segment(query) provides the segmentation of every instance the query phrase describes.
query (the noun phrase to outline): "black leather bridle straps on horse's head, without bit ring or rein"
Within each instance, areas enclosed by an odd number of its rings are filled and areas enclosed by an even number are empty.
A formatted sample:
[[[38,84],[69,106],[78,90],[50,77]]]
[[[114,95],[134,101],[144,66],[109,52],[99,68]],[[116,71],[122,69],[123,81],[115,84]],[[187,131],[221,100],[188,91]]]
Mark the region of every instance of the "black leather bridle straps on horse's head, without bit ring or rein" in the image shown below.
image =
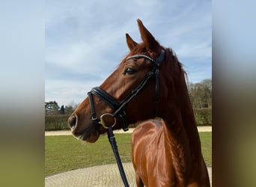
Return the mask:
[[[161,54],[159,55],[156,60],[153,60],[153,58],[150,58],[147,55],[132,55],[127,58],[127,60],[132,58],[144,58],[148,61],[150,61],[153,64],[152,69],[144,76],[144,79],[141,80],[139,85],[132,90],[131,93],[121,102],[118,102],[117,99],[115,99],[113,96],[111,96],[106,91],[103,91],[100,87],[92,88],[91,91],[88,92],[88,98],[91,106],[91,120],[94,120],[95,122],[99,123],[100,120],[97,118],[97,115],[95,113],[94,108],[94,100],[92,98],[92,95],[99,97],[103,102],[105,102],[107,105],[109,105],[110,108],[114,111],[112,117],[119,116],[121,118],[121,128],[124,131],[128,130],[129,122],[126,117],[126,112],[124,111],[125,105],[132,100],[137,94],[144,88],[144,85],[148,82],[150,77],[155,75],[156,77],[156,115],[158,114],[158,108],[159,108],[159,66],[161,65],[163,59],[165,58],[165,50],[162,49]]]

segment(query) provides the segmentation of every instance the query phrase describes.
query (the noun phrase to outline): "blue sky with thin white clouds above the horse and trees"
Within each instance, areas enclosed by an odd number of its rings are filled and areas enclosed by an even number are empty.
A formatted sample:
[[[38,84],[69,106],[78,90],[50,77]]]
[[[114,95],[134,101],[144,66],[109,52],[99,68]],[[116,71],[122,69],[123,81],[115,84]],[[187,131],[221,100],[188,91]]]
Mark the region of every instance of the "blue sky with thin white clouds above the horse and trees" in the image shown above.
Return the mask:
[[[189,82],[212,77],[211,1],[46,1],[45,100],[79,103],[138,43],[141,19],[184,64]]]

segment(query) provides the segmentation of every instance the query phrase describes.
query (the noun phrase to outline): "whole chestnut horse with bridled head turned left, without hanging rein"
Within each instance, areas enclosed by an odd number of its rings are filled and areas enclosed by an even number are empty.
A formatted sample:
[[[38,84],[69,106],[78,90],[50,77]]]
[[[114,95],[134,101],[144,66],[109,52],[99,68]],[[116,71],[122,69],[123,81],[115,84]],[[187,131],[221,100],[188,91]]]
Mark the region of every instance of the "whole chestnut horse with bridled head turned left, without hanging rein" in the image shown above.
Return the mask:
[[[161,117],[133,132],[137,186],[210,186],[182,65],[137,21],[142,43],[126,35],[129,54],[73,111],[70,129],[95,142],[107,126],[127,130],[129,123]]]

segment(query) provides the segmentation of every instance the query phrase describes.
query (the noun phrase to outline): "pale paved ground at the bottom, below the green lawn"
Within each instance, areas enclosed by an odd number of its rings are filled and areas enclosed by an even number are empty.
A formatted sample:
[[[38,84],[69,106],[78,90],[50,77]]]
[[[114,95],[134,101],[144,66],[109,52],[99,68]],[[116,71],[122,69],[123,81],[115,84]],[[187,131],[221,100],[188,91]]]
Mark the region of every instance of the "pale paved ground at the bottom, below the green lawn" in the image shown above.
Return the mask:
[[[135,185],[135,172],[131,162],[123,163],[129,186]],[[212,183],[212,168],[208,168]],[[45,179],[45,187],[120,187],[124,186],[118,165],[99,165],[55,174]]]

